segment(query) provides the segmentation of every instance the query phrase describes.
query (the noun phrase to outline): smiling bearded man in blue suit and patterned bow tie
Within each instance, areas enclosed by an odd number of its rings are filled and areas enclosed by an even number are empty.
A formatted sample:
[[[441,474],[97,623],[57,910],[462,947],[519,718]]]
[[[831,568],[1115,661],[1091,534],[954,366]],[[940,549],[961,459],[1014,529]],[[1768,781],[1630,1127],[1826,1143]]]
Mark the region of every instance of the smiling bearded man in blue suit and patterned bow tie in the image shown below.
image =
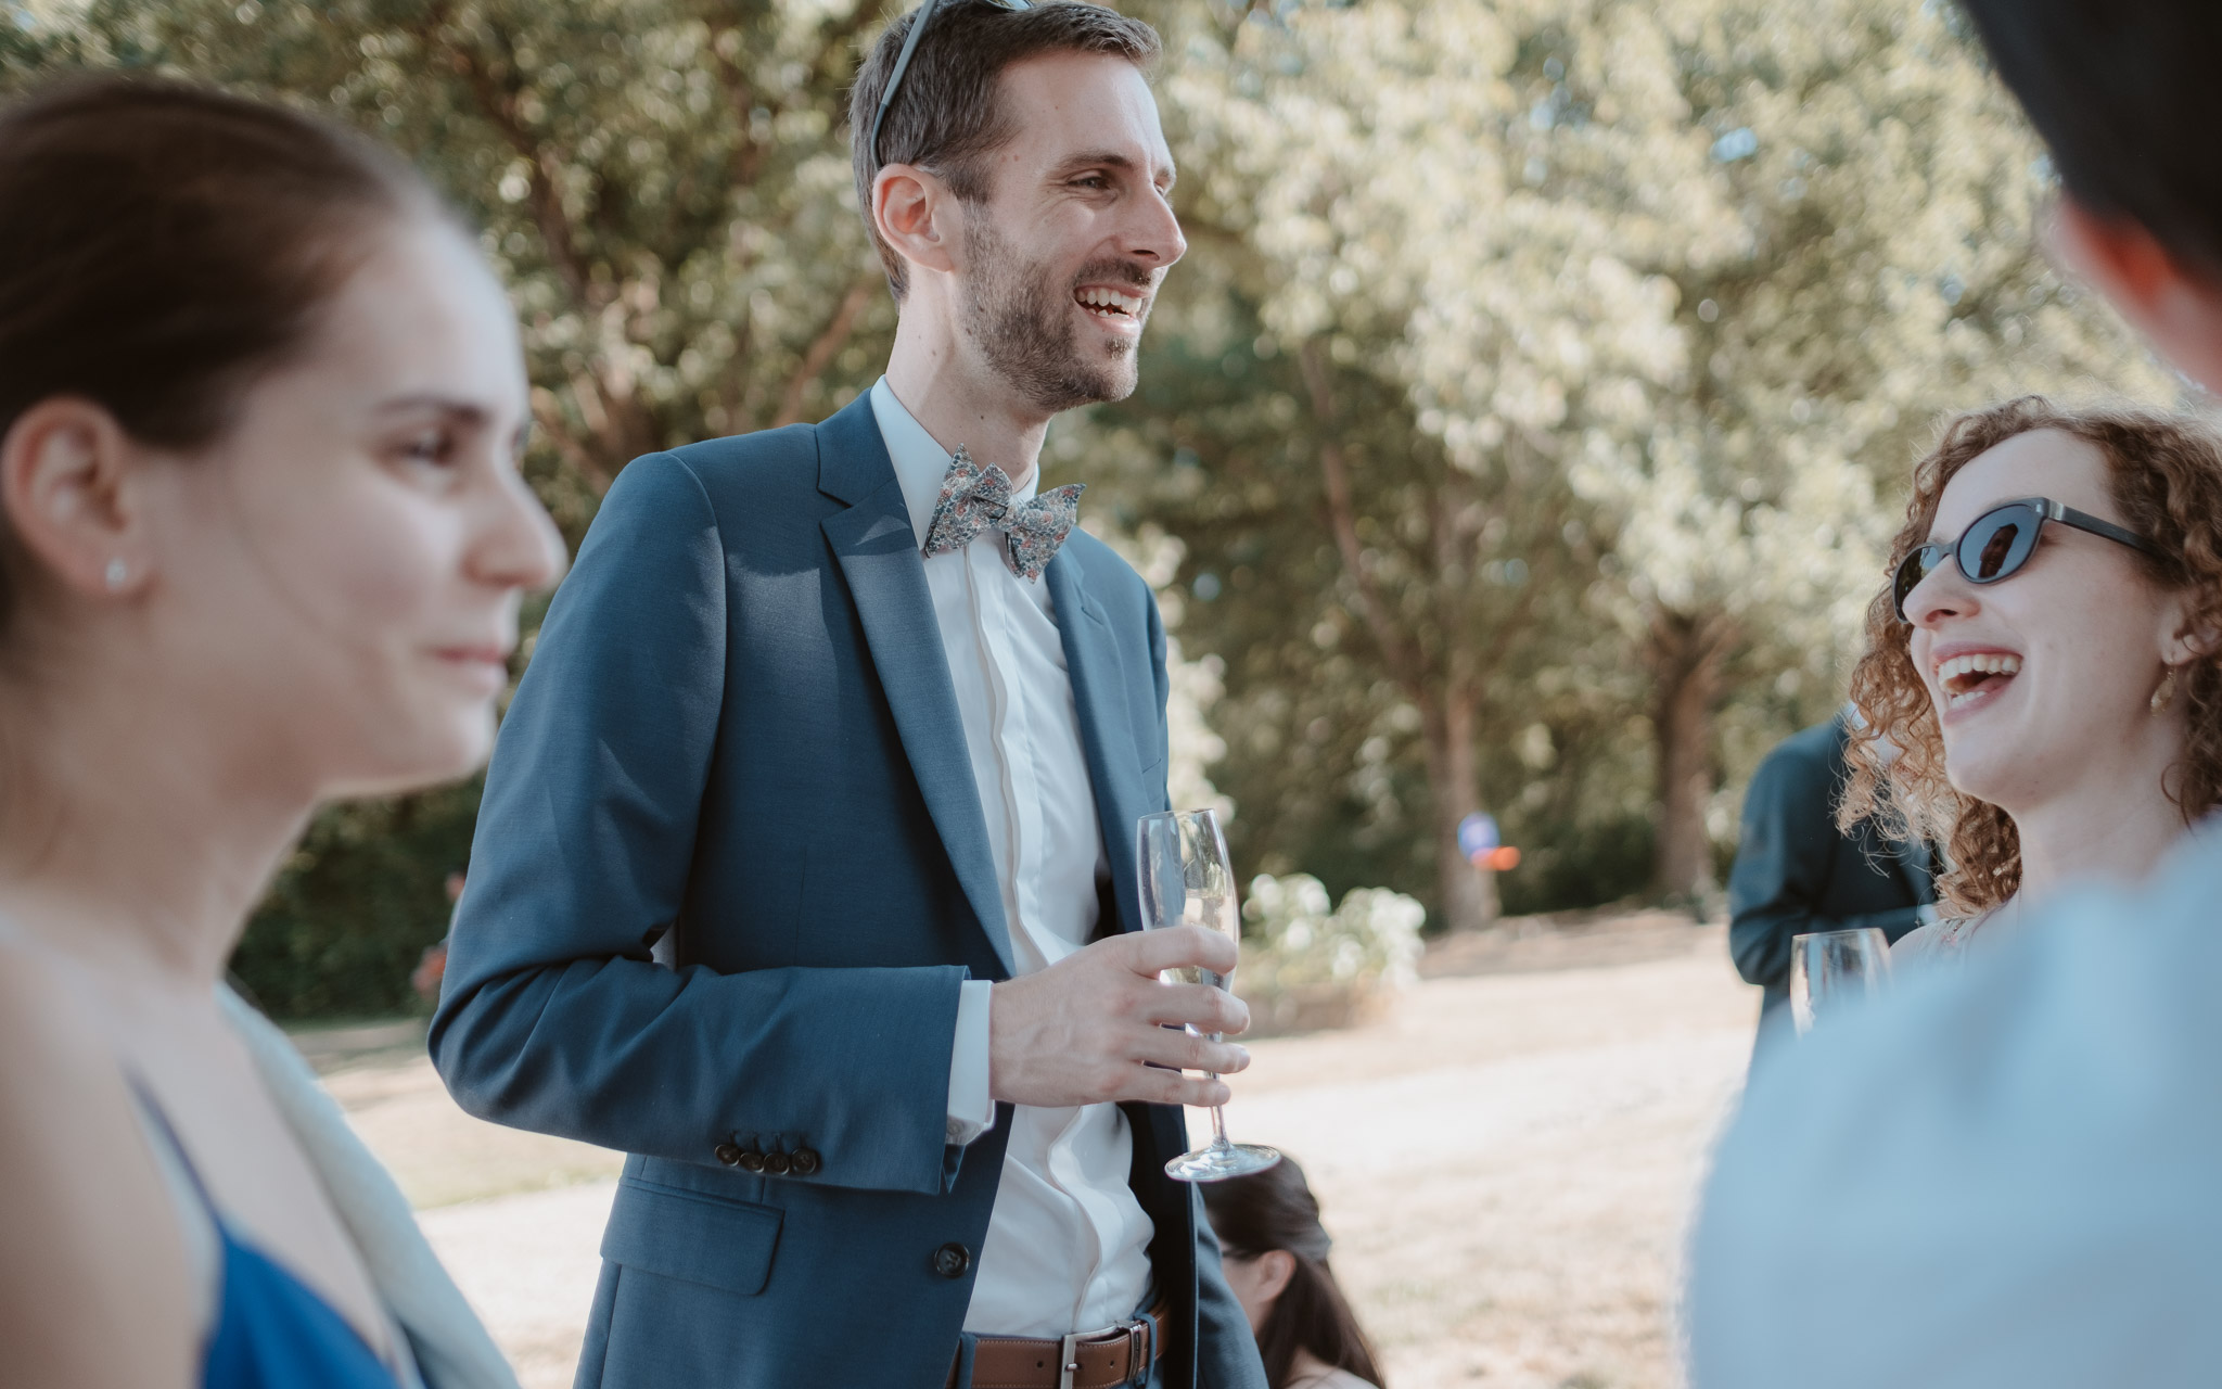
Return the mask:
[[[880,38],[858,193],[902,304],[815,427],[633,460],[502,727],[431,1051],[473,1113],[624,1149],[578,1382],[1264,1389],[1180,1105],[1240,1071],[1167,809],[1149,587],[1040,491],[1135,387],[1184,249],[1091,4]]]

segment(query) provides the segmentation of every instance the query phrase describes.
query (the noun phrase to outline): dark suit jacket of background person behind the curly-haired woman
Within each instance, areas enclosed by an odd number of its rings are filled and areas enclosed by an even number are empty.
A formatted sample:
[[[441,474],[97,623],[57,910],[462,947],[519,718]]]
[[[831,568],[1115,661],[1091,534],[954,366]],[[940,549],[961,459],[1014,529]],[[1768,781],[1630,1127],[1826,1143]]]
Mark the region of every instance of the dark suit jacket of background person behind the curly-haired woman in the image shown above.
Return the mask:
[[[1744,827],[1729,869],[1729,953],[1764,989],[1758,1047],[1789,1025],[1791,936],[1880,927],[1893,942],[1935,920],[1924,845],[1884,838],[1873,820],[1838,831],[1849,740],[1844,709],[1784,738],[1744,791]]]

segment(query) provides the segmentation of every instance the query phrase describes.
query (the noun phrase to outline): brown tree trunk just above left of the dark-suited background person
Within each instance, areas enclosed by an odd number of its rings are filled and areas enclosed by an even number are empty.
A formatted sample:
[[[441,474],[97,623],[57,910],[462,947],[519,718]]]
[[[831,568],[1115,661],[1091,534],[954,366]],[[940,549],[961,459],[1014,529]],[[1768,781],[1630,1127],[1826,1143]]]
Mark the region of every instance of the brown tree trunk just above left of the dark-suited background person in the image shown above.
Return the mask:
[[[1660,611],[1651,620],[1651,731],[1658,747],[1658,847],[1651,887],[1678,902],[1713,891],[1713,840],[1704,805],[1713,796],[1713,705],[1731,624],[1718,613]]]

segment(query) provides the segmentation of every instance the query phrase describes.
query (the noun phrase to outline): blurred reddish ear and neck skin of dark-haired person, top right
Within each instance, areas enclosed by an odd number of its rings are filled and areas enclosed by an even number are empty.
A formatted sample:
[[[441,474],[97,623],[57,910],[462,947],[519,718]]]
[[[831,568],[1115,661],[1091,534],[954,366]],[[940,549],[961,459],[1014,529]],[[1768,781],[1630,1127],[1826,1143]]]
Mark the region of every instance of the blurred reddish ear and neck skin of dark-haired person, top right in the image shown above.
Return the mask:
[[[2106,296],[2184,376],[2222,393],[2222,284],[2184,264],[2140,222],[2062,198],[2044,224],[2062,269]]]

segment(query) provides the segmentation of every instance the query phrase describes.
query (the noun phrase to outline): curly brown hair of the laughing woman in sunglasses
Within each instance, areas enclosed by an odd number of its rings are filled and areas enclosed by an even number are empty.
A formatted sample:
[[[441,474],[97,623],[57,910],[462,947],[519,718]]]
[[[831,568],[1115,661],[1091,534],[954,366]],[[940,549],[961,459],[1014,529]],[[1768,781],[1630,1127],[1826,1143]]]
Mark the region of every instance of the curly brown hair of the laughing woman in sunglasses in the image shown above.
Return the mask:
[[[2060,409],[2042,396],[1969,411],[1944,427],[1935,449],[1913,467],[1906,524],[1891,542],[1895,573],[1929,542],[1938,500],[1953,473],[2018,433],[2055,429],[2093,444],[2106,460],[2106,491],[2122,524],[2166,556],[2142,556],[2146,576],[2189,593],[2189,631],[2222,631],[2222,438],[2206,424],[2142,409]],[[1938,880],[1946,909],[1973,916],[2022,887],[2022,840],[2000,807],[1962,796],[1944,776],[1944,738],[1929,687],[1913,669],[1906,624],[1891,584],[1866,604],[1866,653],[1851,673],[1851,702],[1866,720],[1851,740],[1851,782],[1838,805],[1849,829],[1878,816],[1891,833],[1942,845],[1951,871]],[[2200,653],[2178,667],[2191,738],[2164,773],[2184,822],[2222,802],[2222,653]],[[1895,758],[1884,758],[1895,747]]]

